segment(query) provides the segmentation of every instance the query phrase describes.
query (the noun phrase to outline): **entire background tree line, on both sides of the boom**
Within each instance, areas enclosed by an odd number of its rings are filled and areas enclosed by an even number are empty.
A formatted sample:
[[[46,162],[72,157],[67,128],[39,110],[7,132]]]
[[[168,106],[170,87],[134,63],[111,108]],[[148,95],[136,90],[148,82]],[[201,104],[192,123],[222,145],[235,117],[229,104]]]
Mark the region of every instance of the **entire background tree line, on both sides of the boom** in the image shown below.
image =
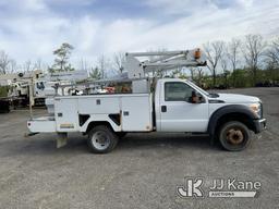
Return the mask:
[[[279,85],[279,37],[265,40],[260,35],[251,34],[232,38],[227,42],[208,41],[202,46],[202,49],[207,57],[207,67],[179,67],[168,76],[187,77],[208,88]],[[53,51],[54,60],[50,66],[40,60],[34,63],[26,61],[20,66],[4,51],[0,51],[0,74],[35,69],[45,69],[50,73],[74,71],[70,63],[72,50],[74,50],[73,46],[68,42],[62,44]],[[81,59],[76,69],[88,71],[90,77],[95,79],[106,78],[122,73],[124,60],[124,52],[117,52],[110,57],[101,54],[95,65]],[[157,73],[157,76],[162,77],[166,74]]]

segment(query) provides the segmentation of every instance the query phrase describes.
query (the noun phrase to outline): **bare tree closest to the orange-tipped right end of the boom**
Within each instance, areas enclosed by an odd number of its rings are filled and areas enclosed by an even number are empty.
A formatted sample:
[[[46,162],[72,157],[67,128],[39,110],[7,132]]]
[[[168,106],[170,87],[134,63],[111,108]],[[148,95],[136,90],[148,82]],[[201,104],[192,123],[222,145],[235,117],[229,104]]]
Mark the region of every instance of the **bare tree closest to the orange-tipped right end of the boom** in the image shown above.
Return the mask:
[[[214,42],[207,42],[206,45],[204,45],[204,50],[208,61],[207,66],[214,77],[214,86],[216,86],[217,66],[221,60],[223,49],[225,49],[225,42],[220,40],[214,41]]]

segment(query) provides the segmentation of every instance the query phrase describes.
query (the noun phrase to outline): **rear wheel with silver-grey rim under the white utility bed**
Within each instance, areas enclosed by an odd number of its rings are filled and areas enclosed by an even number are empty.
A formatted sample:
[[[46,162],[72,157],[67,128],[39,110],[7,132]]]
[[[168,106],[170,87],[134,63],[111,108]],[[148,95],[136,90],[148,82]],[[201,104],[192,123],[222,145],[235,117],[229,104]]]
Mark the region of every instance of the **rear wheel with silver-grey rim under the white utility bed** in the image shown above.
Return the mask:
[[[90,152],[108,153],[118,144],[118,136],[106,125],[98,125],[89,131],[87,145]]]

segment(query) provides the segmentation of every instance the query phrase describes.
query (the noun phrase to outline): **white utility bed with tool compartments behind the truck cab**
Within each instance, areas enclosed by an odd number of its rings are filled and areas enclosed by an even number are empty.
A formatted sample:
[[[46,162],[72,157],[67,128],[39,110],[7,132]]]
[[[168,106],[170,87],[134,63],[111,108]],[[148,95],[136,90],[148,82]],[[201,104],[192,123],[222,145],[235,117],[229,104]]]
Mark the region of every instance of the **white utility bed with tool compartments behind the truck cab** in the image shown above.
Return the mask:
[[[50,132],[53,125],[54,132],[86,132],[90,122],[109,122],[116,132],[153,131],[150,94],[59,96],[51,102],[53,116],[29,121],[32,132]]]

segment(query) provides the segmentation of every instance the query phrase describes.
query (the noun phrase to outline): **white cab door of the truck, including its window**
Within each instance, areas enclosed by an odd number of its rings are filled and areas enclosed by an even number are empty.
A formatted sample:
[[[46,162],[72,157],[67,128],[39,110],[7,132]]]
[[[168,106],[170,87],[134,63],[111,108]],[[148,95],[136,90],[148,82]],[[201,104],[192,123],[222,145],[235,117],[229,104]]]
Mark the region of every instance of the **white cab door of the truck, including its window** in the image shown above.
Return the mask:
[[[165,82],[160,90],[160,116],[157,119],[161,132],[206,132],[208,125],[208,101],[183,82]],[[197,94],[199,102],[192,101]]]

